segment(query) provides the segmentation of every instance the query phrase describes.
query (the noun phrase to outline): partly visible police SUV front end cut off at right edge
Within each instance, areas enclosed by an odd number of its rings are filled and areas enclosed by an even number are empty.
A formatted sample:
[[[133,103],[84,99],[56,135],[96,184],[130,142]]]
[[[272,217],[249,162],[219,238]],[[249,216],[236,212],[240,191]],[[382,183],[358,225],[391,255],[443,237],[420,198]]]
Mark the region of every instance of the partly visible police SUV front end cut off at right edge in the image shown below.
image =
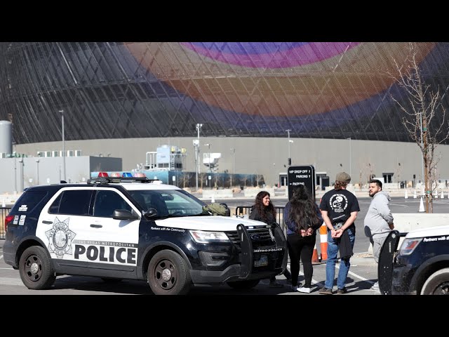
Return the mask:
[[[397,249],[400,237],[405,237]],[[449,225],[390,232],[379,258],[385,295],[449,295]]]

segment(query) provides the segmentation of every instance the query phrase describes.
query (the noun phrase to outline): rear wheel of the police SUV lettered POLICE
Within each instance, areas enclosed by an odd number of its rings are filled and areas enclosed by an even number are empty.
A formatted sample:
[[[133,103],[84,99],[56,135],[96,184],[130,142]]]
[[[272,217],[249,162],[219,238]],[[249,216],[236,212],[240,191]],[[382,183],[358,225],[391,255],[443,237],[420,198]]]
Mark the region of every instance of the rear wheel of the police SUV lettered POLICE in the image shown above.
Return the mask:
[[[36,263],[38,272],[33,273],[32,265]],[[56,276],[51,265],[50,256],[41,246],[31,246],[22,253],[19,262],[19,274],[28,289],[48,289],[55,282]]]

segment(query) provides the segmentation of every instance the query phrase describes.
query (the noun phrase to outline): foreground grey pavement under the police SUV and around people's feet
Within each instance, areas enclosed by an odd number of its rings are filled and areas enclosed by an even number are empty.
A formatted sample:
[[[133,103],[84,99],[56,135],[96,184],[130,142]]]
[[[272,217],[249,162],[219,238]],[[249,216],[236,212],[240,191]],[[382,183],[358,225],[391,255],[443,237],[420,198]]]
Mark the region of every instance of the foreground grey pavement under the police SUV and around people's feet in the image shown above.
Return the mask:
[[[82,295],[151,295],[152,292],[145,282],[124,280],[119,284],[105,284],[99,277],[79,277],[60,276],[55,284],[48,290],[29,290],[20,280],[18,270],[14,270],[10,265],[6,265],[3,260],[0,240],[0,295],[55,295],[55,294],[82,294]],[[338,265],[335,275],[338,272]],[[290,290],[290,283],[280,275],[278,282],[283,284],[282,288],[269,288],[268,280],[261,280],[254,289],[238,291],[230,288],[226,284],[221,286],[194,286],[190,291],[190,296],[239,296],[239,295],[319,295],[318,290],[326,280],[326,263],[314,264],[314,276],[312,279],[311,293],[299,293]],[[347,295],[378,295],[378,291],[371,291],[370,287],[377,279],[377,264],[368,253],[358,253],[351,258],[351,268],[347,278]],[[300,272],[300,282],[304,282],[302,266]],[[336,286],[334,286],[334,293]],[[324,295],[321,295],[324,296]]]

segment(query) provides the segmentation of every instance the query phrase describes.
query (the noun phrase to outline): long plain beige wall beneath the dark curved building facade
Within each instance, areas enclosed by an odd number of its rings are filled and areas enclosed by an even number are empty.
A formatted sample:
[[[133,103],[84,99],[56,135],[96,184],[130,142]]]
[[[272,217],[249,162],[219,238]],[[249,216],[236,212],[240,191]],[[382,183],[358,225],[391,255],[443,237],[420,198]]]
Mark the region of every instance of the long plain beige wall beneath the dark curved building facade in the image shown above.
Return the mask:
[[[195,154],[192,138],[129,138],[105,140],[70,140],[65,141],[66,150],[82,150],[83,155],[123,158],[123,170],[135,169],[136,164],[145,164],[145,153],[155,151],[160,145],[185,147],[185,168],[195,171]],[[368,176],[382,176],[382,173],[394,173],[395,182],[417,180],[422,178],[422,166],[419,147],[415,143],[384,142],[373,140],[341,140],[291,138],[290,155],[293,165],[314,165],[316,172],[326,172],[330,183],[335,180],[337,172],[346,171],[352,176],[352,183],[366,183]],[[287,138],[239,138],[239,137],[201,137],[200,157],[208,151],[204,144],[210,143],[211,152],[221,152],[218,171],[234,171],[232,148],[235,150],[235,172],[262,174],[267,185],[279,182],[279,173],[286,173],[288,157]],[[15,145],[15,151],[36,154],[36,150],[58,150],[60,142]],[[438,172],[441,178],[449,179],[449,145],[436,148],[435,154],[441,152]],[[351,167],[349,162],[351,159]],[[341,166],[340,166],[341,164]],[[399,165],[401,164],[401,165]],[[201,164],[201,172],[206,166]]]

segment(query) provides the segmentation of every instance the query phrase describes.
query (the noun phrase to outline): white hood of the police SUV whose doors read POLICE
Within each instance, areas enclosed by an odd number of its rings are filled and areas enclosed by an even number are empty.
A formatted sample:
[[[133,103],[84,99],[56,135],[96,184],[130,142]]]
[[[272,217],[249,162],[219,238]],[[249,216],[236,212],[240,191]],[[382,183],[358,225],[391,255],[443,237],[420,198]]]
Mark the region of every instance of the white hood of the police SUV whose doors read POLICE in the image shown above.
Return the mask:
[[[245,227],[266,226],[257,220],[232,218],[230,216],[185,216],[156,220],[161,227],[184,228],[185,230],[218,230],[221,232],[237,230],[237,225],[243,223]]]

